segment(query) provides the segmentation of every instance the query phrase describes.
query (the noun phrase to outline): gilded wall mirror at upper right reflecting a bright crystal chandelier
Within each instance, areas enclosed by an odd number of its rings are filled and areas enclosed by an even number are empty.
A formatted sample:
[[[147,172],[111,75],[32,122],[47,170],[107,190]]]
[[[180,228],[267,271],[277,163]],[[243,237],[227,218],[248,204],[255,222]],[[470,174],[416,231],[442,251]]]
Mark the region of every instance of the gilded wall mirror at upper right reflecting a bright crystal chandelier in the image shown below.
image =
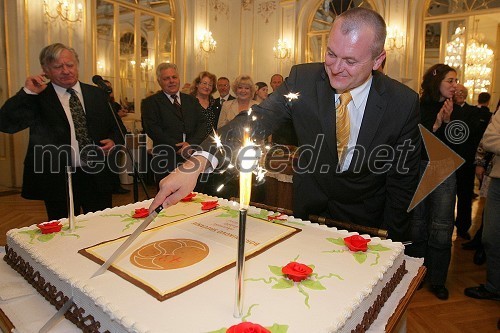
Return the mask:
[[[426,10],[423,70],[437,62],[455,68],[461,83],[468,88],[470,104],[477,104],[481,92],[489,92],[492,101],[500,97],[496,88],[496,78],[500,77],[500,66],[496,66],[500,51],[499,14],[500,0],[431,0]],[[437,35],[443,37],[439,46],[431,45]]]

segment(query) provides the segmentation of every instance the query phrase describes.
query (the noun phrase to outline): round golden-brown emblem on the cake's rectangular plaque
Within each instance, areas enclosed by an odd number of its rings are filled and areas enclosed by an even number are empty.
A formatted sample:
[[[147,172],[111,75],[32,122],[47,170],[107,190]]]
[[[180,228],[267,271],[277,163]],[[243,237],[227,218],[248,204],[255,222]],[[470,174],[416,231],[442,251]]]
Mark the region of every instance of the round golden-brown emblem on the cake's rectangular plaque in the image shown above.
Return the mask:
[[[197,240],[164,239],[135,250],[130,262],[144,269],[168,270],[194,265],[208,253],[208,246]]]

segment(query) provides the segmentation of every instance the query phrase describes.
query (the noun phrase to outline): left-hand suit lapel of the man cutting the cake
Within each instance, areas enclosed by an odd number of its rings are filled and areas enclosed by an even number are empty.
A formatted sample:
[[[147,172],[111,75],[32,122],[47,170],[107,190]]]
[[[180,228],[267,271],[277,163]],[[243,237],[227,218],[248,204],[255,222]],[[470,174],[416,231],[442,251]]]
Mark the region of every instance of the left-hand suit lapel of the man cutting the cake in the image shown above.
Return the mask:
[[[326,76],[323,80],[316,82],[318,91],[318,118],[321,122],[322,133],[325,135],[325,141],[329,151],[337,159],[337,141],[335,133],[335,91],[330,86],[330,81]]]

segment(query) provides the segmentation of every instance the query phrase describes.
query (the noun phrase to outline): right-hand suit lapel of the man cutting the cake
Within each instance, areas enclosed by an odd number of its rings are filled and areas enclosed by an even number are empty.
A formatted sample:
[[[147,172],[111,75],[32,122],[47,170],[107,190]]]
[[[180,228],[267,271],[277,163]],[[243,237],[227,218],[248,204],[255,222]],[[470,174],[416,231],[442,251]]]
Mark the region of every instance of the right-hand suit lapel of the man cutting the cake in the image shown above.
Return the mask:
[[[386,86],[381,75],[374,73],[372,86],[368,94],[368,100],[366,101],[365,113],[359,129],[358,141],[356,142],[356,144],[363,147],[371,145],[387,108],[387,100],[382,98]]]

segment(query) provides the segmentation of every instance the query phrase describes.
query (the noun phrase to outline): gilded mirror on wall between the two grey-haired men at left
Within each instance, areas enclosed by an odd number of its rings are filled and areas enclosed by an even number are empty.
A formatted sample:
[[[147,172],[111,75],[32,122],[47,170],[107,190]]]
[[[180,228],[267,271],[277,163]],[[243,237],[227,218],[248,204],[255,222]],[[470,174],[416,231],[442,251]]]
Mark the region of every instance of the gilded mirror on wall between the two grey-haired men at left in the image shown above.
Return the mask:
[[[174,61],[171,2],[95,0],[95,6],[96,73],[140,120],[141,100],[158,90],[157,64]]]

